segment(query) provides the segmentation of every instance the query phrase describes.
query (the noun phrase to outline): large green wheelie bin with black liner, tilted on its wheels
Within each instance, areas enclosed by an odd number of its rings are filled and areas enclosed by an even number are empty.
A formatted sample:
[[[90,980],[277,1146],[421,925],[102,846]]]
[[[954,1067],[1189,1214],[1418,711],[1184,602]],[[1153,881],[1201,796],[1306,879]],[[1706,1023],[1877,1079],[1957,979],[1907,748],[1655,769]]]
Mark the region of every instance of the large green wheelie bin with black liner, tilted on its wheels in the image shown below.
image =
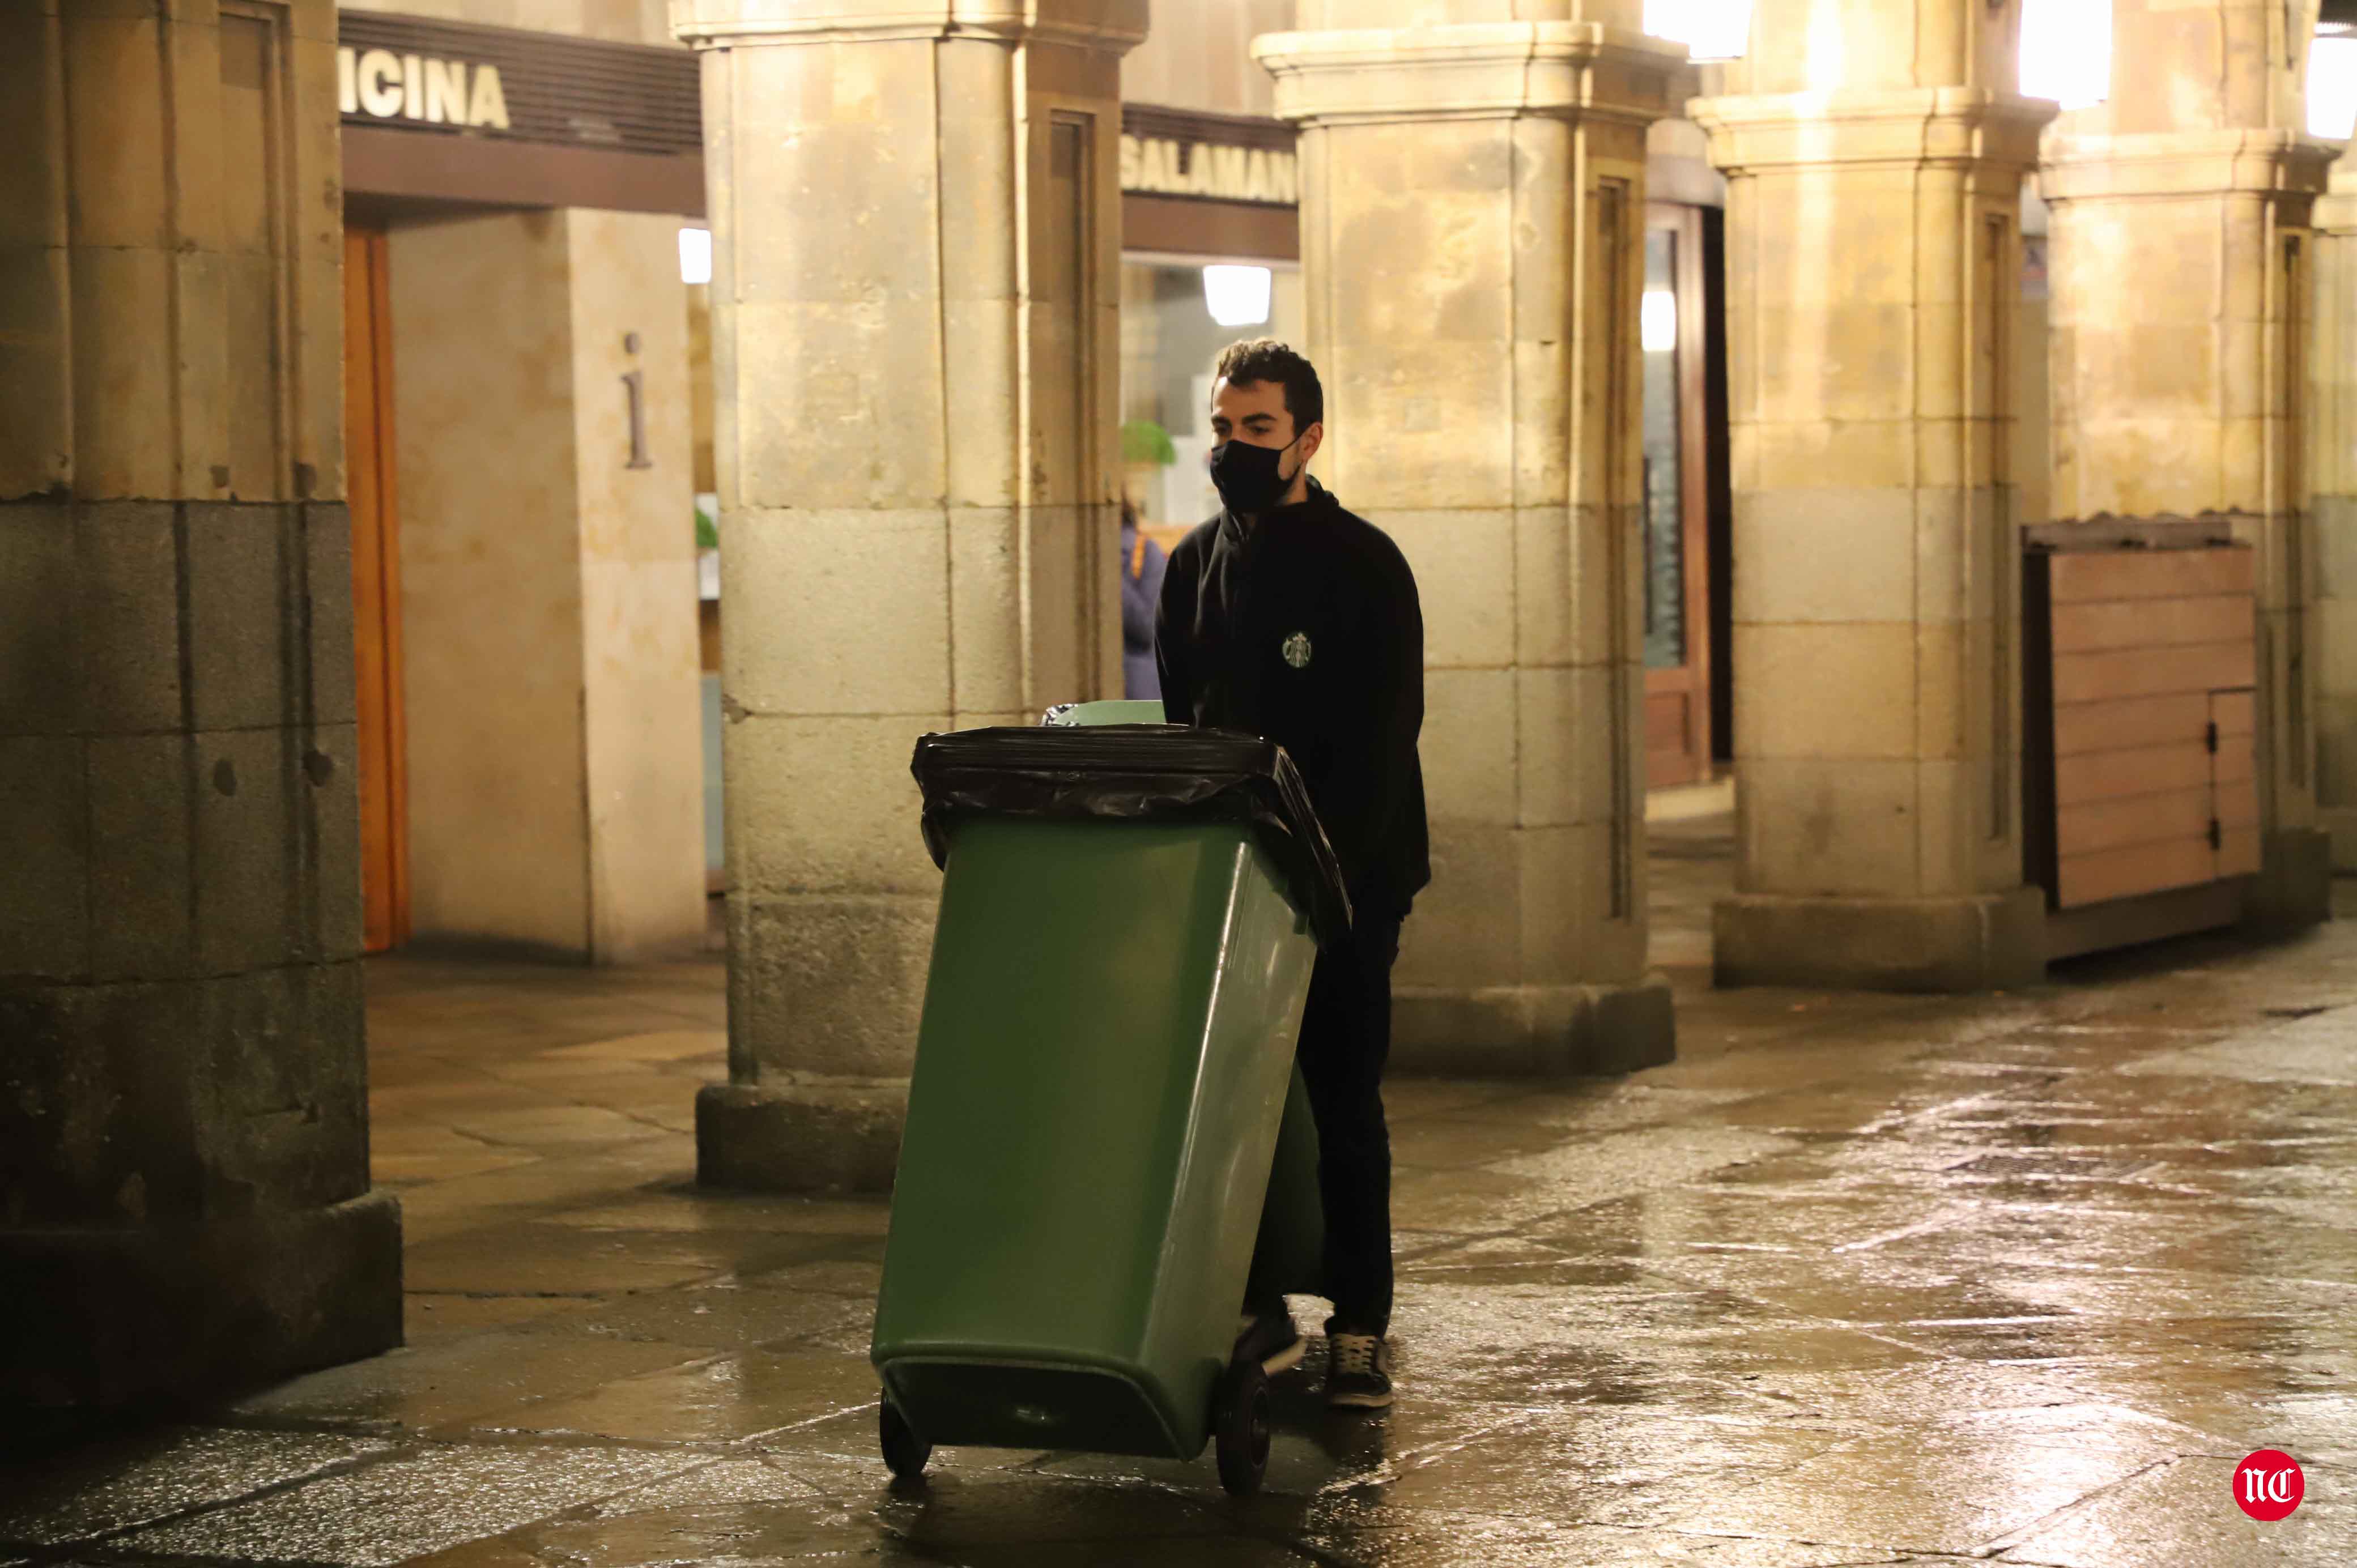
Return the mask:
[[[1292,1061],[1348,901],[1280,747],[1091,707],[917,743],[945,875],[872,1344],[884,1460],[1216,1441],[1249,1493],[1268,1382],[1237,1306],[1247,1269],[1315,1290]]]

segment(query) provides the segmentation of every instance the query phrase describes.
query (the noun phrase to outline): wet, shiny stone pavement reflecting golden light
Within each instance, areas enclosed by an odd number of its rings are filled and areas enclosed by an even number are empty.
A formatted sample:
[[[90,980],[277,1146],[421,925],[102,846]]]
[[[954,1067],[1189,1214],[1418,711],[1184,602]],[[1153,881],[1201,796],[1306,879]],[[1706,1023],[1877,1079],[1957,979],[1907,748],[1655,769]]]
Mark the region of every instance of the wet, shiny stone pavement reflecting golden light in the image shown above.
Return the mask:
[[[1209,1457],[886,1485],[884,1205],[693,1186],[717,964],[377,962],[408,1349],[19,1467],[0,1563],[2357,1563],[2357,922],[1978,1000],[1662,950],[1678,1063],[1393,1085],[1400,1405],[1327,1415],[1313,1351],[1242,1504]]]

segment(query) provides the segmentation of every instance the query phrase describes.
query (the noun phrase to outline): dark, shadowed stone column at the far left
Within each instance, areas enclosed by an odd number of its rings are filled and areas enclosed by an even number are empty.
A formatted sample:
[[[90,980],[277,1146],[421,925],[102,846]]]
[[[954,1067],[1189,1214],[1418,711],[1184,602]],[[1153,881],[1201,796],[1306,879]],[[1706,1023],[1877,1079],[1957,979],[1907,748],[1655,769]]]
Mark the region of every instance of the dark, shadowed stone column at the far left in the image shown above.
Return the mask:
[[[0,1403],[372,1353],[335,7],[5,7],[0,146]]]

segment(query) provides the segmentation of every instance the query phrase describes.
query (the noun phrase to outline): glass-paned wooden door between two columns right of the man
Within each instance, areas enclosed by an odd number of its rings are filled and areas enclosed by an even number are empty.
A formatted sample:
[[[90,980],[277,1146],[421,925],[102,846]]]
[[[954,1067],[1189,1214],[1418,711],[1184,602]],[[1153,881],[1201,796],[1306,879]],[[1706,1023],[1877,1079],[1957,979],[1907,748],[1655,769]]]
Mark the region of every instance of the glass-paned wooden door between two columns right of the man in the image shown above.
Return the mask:
[[[1645,783],[1711,771],[1709,446],[1702,212],[1652,203],[1645,222]]]

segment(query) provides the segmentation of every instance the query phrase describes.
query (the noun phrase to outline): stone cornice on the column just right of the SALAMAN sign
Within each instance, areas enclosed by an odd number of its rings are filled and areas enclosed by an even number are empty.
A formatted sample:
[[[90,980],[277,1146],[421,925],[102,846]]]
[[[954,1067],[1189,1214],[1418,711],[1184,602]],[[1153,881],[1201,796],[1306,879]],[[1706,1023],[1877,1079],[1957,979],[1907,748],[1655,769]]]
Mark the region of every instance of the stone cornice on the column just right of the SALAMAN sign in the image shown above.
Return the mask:
[[[1277,118],[1301,127],[1596,118],[1650,125],[1678,111],[1685,47],[1596,21],[1266,33]]]

